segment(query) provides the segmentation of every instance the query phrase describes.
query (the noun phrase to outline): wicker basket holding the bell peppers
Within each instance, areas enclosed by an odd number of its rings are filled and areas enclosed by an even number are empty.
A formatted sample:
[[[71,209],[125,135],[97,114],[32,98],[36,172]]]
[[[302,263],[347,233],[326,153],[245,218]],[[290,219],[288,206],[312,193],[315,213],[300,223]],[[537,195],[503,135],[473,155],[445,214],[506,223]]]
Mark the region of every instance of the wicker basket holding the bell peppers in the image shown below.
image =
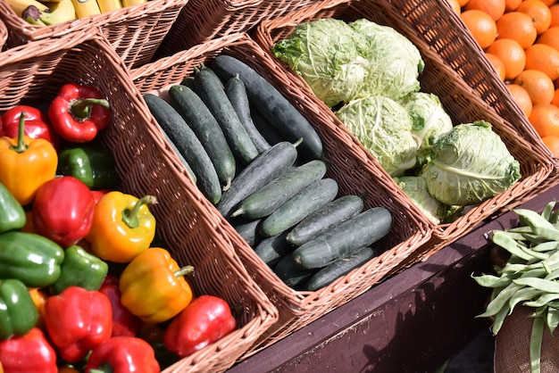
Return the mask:
[[[100,32],[72,32],[8,49],[0,62],[0,111],[16,104],[50,102],[64,83],[96,87],[112,103],[113,121],[98,135],[111,149],[120,175],[119,190],[155,195],[150,207],[157,231],[180,265],[196,269],[196,294],[221,296],[235,309],[238,329],[168,369],[169,372],[223,371],[232,366],[278,319],[278,311],[239,261],[228,228],[214,219],[208,203],[176,162],[152,120],[126,67]],[[213,207],[213,206],[210,206]]]

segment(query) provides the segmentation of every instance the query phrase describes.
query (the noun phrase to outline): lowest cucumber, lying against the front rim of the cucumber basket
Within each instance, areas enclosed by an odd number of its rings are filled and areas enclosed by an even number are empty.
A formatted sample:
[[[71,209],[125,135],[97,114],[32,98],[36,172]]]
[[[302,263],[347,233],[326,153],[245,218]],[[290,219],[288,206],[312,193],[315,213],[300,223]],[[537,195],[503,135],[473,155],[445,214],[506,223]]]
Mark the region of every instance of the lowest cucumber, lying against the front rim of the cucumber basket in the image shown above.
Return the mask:
[[[379,255],[379,251],[369,246],[357,249],[355,252],[339,258],[338,261],[334,261],[314,273],[311,278],[308,278],[305,281],[305,286],[303,286],[303,288],[307,291],[314,292],[321,287],[329,286],[336,279],[345,276],[358,267],[361,267],[364,263],[370,261],[377,255]]]

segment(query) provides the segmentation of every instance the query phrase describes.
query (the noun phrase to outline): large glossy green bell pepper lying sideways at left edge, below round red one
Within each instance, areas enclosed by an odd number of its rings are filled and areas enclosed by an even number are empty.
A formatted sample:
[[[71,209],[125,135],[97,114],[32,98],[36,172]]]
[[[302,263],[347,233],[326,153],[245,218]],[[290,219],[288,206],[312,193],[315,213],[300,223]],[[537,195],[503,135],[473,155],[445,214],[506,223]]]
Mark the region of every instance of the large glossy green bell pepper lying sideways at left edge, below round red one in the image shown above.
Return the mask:
[[[35,233],[0,235],[0,278],[17,278],[28,287],[45,287],[60,277],[63,248]]]

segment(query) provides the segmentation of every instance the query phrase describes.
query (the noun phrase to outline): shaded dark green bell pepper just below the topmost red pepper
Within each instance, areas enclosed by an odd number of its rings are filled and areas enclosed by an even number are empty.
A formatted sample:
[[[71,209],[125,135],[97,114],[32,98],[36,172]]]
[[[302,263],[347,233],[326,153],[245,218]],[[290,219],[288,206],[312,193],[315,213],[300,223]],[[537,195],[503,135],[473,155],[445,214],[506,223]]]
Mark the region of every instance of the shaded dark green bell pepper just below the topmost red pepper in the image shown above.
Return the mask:
[[[113,153],[93,144],[75,145],[59,152],[56,174],[79,178],[91,190],[113,190],[118,182]]]

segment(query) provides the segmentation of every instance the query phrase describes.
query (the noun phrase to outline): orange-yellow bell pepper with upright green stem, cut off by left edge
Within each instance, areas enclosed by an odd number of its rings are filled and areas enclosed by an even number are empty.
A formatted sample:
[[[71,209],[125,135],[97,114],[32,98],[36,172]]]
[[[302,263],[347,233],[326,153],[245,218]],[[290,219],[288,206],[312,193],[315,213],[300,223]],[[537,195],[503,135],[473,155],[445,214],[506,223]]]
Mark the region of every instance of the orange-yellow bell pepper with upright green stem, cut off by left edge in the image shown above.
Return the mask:
[[[38,187],[54,178],[58,165],[54,146],[44,138],[25,136],[24,128],[22,114],[18,137],[0,137],[0,182],[21,205],[33,201]]]

